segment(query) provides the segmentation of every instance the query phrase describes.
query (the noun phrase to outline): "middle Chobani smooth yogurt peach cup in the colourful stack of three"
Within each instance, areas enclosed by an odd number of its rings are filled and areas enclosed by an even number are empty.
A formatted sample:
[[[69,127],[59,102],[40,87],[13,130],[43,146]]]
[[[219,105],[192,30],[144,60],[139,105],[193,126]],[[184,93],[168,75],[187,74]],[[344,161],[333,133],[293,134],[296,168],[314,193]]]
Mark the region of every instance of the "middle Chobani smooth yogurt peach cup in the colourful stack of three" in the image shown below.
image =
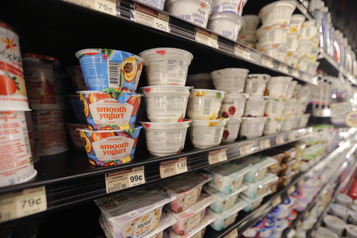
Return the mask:
[[[80,91],[79,98],[91,130],[135,127],[141,94],[117,91]]]

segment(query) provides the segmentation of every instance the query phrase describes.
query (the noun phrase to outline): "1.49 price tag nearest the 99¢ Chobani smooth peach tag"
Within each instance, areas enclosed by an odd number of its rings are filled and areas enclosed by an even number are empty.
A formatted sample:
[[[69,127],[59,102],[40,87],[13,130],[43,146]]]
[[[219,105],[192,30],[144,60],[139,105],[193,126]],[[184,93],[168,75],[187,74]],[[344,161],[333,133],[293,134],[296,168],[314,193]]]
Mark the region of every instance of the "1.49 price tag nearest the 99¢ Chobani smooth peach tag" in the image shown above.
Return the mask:
[[[160,162],[160,177],[167,178],[187,172],[187,157]]]

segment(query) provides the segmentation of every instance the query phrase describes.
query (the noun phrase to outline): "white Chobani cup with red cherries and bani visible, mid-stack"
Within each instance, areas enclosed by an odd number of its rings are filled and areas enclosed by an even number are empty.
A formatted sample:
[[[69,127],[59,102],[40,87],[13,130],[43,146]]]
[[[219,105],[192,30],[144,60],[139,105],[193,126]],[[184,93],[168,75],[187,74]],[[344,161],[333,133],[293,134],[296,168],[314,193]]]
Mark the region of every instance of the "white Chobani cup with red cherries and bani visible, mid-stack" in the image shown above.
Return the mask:
[[[249,94],[246,93],[227,93],[223,98],[220,117],[240,119],[244,112],[244,107]]]

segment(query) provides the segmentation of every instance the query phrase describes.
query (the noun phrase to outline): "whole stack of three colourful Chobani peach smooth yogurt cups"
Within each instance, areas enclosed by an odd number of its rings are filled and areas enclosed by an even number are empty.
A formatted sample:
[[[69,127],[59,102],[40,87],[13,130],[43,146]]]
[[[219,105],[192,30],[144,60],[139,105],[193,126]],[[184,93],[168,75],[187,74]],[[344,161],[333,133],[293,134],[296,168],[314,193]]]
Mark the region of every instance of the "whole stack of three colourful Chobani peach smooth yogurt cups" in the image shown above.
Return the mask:
[[[134,159],[141,126],[135,125],[141,94],[135,93],[145,61],[120,50],[76,53],[87,91],[78,91],[86,128],[77,128],[89,163],[117,165]]]

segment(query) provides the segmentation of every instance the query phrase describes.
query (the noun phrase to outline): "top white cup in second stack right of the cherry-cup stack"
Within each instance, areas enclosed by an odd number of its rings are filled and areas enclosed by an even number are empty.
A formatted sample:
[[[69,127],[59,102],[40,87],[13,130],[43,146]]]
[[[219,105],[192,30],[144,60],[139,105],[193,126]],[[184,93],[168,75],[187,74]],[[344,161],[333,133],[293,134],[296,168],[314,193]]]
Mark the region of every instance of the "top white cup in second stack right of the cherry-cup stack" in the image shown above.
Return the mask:
[[[286,91],[291,80],[292,77],[288,76],[271,77],[267,83],[267,87],[264,94],[266,96],[271,96],[272,98],[285,97]]]

